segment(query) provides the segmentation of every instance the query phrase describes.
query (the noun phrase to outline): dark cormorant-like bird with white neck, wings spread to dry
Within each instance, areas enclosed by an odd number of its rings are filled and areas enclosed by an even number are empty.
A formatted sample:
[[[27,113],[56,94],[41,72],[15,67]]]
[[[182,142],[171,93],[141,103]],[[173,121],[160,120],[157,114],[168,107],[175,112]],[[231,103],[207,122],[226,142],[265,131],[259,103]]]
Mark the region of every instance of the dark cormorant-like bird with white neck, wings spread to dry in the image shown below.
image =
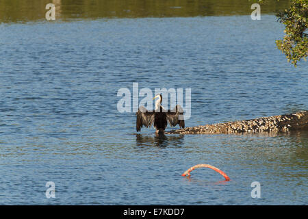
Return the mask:
[[[136,130],[145,127],[151,127],[154,123],[156,133],[164,133],[167,127],[167,121],[171,127],[179,125],[184,128],[185,122],[183,117],[183,109],[180,105],[176,105],[173,110],[166,110],[162,106],[162,94],[157,94],[153,99],[157,99],[155,102],[155,111],[149,112],[143,106],[139,107],[136,120]]]

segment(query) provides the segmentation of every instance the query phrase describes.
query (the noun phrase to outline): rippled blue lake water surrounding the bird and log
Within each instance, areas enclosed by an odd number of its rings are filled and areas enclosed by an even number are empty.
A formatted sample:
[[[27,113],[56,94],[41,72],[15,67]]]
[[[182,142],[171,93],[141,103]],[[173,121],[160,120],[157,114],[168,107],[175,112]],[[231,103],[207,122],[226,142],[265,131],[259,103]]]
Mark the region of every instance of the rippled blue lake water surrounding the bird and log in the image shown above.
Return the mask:
[[[155,136],[120,88],[191,88],[185,125],[308,109],[264,15],[0,24],[0,204],[307,205],[308,133]],[[168,130],[170,128],[168,127]],[[181,174],[196,164],[187,179]],[[55,198],[45,184],[55,183]],[[261,198],[251,198],[251,183]]]

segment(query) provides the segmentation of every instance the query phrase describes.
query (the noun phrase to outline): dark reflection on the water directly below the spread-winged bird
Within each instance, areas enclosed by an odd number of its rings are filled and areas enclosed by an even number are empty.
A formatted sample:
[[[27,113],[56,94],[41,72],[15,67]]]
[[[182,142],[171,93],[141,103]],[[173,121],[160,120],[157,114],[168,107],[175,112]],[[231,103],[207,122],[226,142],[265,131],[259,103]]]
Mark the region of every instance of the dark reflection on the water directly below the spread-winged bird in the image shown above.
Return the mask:
[[[142,136],[141,134],[136,134],[136,145],[144,146],[149,144],[151,146],[168,146],[169,144],[174,144],[176,146],[181,146],[183,144],[183,135],[179,136],[165,136],[164,134],[152,136]]]

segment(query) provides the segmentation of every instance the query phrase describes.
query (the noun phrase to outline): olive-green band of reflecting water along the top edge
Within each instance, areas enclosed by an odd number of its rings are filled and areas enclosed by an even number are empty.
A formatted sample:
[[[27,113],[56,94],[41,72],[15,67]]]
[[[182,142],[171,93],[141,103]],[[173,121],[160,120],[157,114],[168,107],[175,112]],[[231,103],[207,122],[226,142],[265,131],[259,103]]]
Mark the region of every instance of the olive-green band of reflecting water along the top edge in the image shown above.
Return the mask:
[[[257,0],[253,0],[254,3]],[[250,15],[248,0],[40,0],[0,1],[0,23],[44,20],[46,5],[55,5],[56,21],[97,18],[145,18]],[[287,0],[268,1],[262,14],[276,14],[290,5]]]

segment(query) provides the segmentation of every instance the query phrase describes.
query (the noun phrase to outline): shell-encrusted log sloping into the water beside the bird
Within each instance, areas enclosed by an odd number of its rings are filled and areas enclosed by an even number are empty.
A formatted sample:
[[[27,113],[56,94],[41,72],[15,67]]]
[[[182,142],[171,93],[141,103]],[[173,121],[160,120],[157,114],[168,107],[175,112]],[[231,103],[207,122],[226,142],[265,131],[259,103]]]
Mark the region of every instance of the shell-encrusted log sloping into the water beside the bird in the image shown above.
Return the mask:
[[[308,111],[166,131],[165,134],[261,133],[308,130]]]

